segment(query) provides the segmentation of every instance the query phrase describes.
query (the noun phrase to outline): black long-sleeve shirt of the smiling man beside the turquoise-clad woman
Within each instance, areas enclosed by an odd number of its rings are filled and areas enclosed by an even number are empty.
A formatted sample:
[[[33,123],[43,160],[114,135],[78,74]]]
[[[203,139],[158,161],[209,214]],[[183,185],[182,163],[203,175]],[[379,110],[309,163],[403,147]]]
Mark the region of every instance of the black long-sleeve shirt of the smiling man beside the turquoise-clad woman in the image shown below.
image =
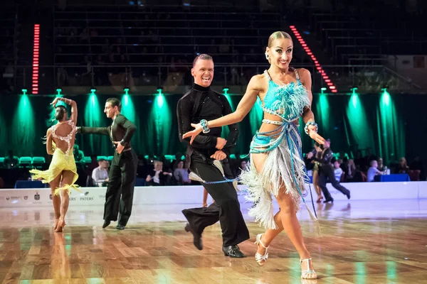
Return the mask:
[[[218,119],[232,112],[230,104],[223,94],[211,90],[210,87],[201,87],[198,84],[194,84],[189,92],[179,99],[176,107],[178,134],[180,141],[186,143],[187,146],[187,165],[189,165],[189,157],[194,151],[205,155],[207,158],[213,155],[218,150],[215,148],[216,138],[221,137],[222,131],[221,127],[215,127],[209,133],[200,133],[190,145],[190,138],[183,139],[182,135],[194,129],[191,124],[198,124],[201,119],[206,119],[207,121]],[[230,129],[230,133],[226,138],[226,146],[222,149],[227,157],[230,155],[232,148],[236,146],[238,125],[231,124],[228,129]]]

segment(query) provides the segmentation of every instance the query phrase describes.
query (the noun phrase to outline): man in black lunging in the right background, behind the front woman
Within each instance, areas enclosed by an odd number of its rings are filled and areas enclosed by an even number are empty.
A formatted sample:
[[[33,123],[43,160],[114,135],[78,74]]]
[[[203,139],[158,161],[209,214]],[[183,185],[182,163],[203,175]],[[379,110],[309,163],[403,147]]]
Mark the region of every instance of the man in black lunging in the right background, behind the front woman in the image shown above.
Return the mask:
[[[323,145],[323,151],[320,155],[320,158],[314,158],[314,160],[317,160],[317,162],[322,163],[322,166],[320,168],[319,172],[319,186],[322,189],[323,195],[325,196],[325,203],[326,202],[334,202],[334,199],[332,198],[329,190],[327,190],[326,182],[329,179],[332,186],[335,187],[337,190],[342,192],[343,195],[347,196],[347,199],[350,199],[350,191],[347,190],[347,188],[343,187],[339,184],[337,180],[335,180],[334,175],[334,168],[332,168],[331,165],[331,159],[332,159],[332,150],[330,148],[331,146],[331,140],[327,139],[325,141],[325,144]]]

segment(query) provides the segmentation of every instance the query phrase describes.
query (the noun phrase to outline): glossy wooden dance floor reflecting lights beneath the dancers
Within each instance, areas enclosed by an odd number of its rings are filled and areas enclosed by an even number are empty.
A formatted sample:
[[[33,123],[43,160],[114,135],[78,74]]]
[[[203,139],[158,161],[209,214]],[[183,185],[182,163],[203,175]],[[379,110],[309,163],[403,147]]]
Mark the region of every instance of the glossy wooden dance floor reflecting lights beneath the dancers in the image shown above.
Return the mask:
[[[193,207],[196,204],[193,205]],[[221,253],[218,224],[204,232],[204,250],[184,231],[188,204],[139,206],[124,231],[102,229],[102,206],[70,208],[63,233],[51,207],[0,209],[0,283],[427,283],[427,200],[335,202],[317,207],[322,238],[299,212],[318,280],[301,280],[298,255],[285,233],[263,268],[256,234],[240,245],[247,258]]]

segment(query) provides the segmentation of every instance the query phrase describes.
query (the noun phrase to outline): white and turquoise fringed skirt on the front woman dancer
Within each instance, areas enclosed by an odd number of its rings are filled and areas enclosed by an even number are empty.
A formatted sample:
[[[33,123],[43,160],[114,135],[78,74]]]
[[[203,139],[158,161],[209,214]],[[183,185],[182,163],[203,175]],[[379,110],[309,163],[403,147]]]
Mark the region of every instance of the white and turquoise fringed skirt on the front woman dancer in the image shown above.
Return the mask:
[[[300,209],[302,191],[308,182],[305,163],[302,160],[301,136],[297,126],[285,123],[278,136],[261,136],[257,133],[251,143],[251,162],[243,170],[241,182],[247,186],[246,200],[253,202],[248,214],[260,222],[265,229],[278,229],[274,222],[273,196],[285,186],[285,193],[295,201]],[[253,154],[265,153],[261,172],[255,168]]]

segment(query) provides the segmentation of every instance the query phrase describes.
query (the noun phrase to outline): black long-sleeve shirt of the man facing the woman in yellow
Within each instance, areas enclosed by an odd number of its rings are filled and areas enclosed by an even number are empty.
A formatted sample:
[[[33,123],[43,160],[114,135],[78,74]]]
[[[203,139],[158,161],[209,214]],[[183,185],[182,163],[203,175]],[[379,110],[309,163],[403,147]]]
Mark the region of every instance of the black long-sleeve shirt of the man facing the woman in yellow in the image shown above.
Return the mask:
[[[112,128],[112,129],[111,129]],[[111,126],[107,127],[80,127],[80,133],[102,134],[110,136],[112,142],[121,141],[125,150],[131,148],[130,139],[134,135],[137,127],[123,114],[117,114]],[[113,147],[116,145],[113,143]]]

